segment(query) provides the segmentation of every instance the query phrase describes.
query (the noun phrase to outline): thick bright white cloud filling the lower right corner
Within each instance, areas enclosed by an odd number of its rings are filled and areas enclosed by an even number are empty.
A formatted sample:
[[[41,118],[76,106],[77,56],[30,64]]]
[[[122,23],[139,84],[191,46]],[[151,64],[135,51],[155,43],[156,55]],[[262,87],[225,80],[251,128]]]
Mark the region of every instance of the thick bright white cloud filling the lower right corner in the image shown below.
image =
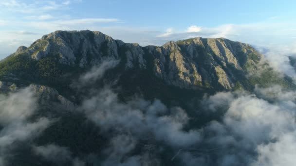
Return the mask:
[[[296,150],[292,146],[296,144],[296,92],[283,91],[280,86],[256,91],[261,99],[240,91],[207,98],[209,109],[222,116],[221,121],[211,121],[203,128],[205,134],[199,149],[184,149],[177,157],[185,165],[192,165],[191,161],[204,166],[293,165],[296,162]],[[226,97],[229,100],[224,99]],[[270,97],[274,101],[262,99],[270,100]],[[221,109],[225,114],[219,113]],[[214,148],[206,149],[208,146]]]

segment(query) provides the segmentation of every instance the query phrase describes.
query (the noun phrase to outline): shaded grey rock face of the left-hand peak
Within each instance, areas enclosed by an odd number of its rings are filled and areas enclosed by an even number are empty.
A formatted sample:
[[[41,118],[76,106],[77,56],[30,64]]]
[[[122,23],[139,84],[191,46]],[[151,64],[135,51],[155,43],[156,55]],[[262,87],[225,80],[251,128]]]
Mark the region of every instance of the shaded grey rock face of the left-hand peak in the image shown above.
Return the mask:
[[[32,59],[40,60],[48,56],[56,56],[65,65],[80,67],[94,65],[103,57],[118,59],[117,43],[110,36],[92,31],[56,31],[44,35],[34,42],[28,49],[21,51],[31,55]]]

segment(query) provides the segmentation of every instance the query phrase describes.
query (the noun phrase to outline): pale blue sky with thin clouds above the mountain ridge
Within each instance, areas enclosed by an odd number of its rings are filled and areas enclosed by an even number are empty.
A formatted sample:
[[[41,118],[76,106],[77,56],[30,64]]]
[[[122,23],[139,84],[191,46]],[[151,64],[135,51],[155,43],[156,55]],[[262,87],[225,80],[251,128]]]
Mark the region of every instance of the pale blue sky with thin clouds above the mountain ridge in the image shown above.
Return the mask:
[[[0,0],[0,59],[56,30],[101,31],[142,46],[196,36],[293,45],[295,7],[296,0]]]

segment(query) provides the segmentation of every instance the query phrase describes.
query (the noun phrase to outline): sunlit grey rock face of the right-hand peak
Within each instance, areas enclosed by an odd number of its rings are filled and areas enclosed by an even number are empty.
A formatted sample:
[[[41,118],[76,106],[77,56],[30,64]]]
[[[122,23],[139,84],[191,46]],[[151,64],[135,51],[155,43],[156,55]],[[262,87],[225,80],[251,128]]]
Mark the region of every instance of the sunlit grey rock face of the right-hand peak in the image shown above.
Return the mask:
[[[256,69],[262,56],[247,44],[224,38],[197,37],[146,49],[153,56],[157,77],[189,89],[217,84],[223,89],[232,89],[238,80],[235,73]]]

